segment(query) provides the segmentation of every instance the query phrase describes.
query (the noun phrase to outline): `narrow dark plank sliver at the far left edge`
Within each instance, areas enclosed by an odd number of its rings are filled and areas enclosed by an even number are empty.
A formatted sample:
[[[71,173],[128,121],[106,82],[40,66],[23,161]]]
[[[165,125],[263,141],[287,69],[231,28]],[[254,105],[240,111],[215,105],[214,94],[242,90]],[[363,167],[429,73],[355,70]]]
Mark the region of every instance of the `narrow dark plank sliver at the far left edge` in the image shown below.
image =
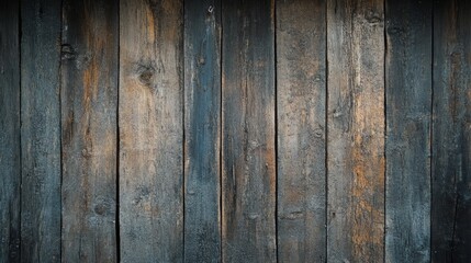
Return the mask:
[[[20,261],[20,10],[0,1],[0,262]]]

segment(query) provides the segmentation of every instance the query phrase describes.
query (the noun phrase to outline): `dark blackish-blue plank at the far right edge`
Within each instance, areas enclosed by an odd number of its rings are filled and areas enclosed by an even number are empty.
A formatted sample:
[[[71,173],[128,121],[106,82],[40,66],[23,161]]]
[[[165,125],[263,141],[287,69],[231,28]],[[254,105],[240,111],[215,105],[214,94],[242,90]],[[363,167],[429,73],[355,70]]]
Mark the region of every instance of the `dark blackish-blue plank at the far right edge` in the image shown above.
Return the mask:
[[[435,1],[431,261],[471,259],[471,2]]]

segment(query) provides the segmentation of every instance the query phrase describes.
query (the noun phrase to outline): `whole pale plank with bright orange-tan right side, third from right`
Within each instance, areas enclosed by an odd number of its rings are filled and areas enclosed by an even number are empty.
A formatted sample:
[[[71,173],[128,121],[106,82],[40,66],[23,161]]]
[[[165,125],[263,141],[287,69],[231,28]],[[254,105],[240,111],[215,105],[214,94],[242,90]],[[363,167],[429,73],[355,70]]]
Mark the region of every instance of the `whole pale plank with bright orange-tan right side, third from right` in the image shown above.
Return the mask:
[[[382,262],[382,0],[328,1],[327,58],[327,261]]]

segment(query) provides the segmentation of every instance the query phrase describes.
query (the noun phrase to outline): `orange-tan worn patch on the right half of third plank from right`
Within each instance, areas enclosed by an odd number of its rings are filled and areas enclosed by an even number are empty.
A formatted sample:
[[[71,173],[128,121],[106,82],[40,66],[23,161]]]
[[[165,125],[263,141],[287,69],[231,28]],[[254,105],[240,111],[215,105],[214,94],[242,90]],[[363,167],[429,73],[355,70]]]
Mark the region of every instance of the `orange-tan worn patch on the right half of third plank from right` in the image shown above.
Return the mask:
[[[366,77],[365,77],[366,78]],[[356,98],[352,160],[352,253],[356,259],[375,259],[383,250],[384,129],[383,100],[372,102],[371,90]]]

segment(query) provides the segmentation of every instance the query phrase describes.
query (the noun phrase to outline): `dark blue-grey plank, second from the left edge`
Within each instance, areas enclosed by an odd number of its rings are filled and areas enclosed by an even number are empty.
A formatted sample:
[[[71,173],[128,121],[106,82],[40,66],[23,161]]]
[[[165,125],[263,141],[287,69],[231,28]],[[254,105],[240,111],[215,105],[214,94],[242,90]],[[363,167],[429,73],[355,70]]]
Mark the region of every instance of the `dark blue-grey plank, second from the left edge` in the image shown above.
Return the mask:
[[[21,2],[21,260],[60,261],[60,0]]]

